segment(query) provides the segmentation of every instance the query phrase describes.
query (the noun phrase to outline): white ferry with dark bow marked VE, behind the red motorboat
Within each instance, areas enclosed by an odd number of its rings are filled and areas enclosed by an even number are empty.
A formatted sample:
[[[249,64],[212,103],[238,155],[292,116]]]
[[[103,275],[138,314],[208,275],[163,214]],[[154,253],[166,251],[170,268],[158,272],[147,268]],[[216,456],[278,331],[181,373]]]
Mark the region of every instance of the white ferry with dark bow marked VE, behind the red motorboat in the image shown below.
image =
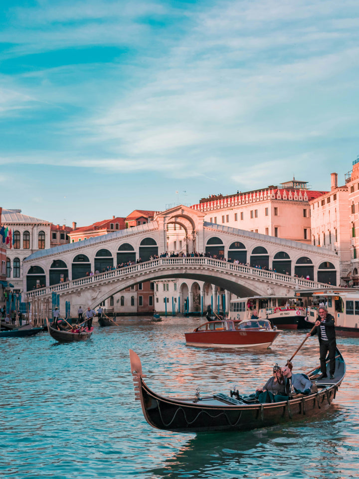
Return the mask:
[[[250,296],[231,300],[229,319],[250,319],[254,312],[259,319],[269,319],[280,329],[305,329],[307,308],[294,296]]]

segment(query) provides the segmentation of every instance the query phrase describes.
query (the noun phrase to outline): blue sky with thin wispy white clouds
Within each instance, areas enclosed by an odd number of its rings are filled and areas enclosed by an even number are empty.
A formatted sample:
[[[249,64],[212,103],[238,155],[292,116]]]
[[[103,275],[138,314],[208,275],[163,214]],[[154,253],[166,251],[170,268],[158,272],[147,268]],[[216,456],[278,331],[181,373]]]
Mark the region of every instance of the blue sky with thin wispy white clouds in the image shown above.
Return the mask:
[[[2,1],[0,206],[79,227],[342,185],[358,37],[358,0]]]

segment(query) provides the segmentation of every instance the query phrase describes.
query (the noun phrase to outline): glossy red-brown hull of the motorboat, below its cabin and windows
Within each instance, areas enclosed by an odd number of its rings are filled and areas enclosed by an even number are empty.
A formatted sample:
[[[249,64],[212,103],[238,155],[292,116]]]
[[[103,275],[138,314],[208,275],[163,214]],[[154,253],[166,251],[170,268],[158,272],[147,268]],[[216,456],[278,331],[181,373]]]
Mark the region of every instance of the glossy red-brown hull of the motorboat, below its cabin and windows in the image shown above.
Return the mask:
[[[188,346],[220,348],[269,348],[279,331],[193,331],[184,333]]]

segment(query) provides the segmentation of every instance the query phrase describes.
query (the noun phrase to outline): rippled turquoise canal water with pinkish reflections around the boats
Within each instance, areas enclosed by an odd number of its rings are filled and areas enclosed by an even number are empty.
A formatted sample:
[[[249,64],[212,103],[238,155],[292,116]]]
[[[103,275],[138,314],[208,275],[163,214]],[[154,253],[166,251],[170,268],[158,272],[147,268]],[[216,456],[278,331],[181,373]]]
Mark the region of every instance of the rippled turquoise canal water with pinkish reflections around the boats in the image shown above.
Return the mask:
[[[180,434],[145,421],[134,399],[129,348],[159,393],[202,395],[235,385],[252,392],[284,365],[304,333],[283,332],[265,351],[188,347],[184,331],[201,320],[152,323],[123,318],[95,328],[92,339],[57,344],[47,334],[0,342],[0,477],[358,478],[359,339],[338,338],[347,375],[333,407],[320,419],[240,433]],[[318,360],[310,338],[294,372]]]

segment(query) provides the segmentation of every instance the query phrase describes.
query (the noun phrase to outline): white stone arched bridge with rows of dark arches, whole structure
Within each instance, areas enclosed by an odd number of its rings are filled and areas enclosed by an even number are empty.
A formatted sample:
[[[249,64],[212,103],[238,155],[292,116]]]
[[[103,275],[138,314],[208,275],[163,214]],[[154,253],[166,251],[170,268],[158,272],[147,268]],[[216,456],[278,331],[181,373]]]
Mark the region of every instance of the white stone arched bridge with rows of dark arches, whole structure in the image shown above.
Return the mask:
[[[68,300],[74,311],[84,304],[96,307],[136,283],[163,278],[203,281],[241,297],[289,295],[298,288],[337,284],[340,264],[333,251],[206,223],[203,217],[179,206],[148,224],[38,250],[24,260],[27,300],[46,300],[55,292],[60,309]],[[176,226],[184,231],[186,256],[158,258]]]

